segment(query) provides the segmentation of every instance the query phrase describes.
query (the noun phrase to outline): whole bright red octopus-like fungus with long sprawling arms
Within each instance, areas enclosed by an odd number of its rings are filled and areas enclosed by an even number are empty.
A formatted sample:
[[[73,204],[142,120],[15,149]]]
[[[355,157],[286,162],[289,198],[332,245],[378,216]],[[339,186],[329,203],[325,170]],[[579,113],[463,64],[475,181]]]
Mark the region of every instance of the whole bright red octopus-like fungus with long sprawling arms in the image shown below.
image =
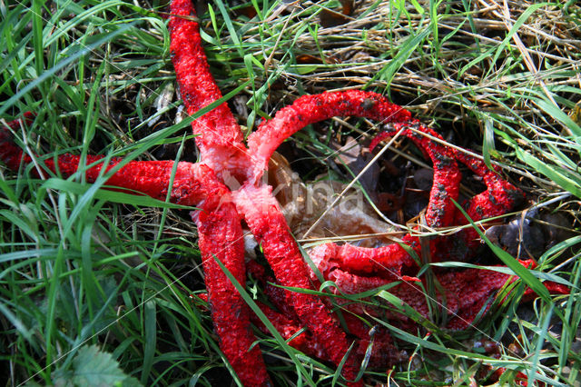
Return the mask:
[[[173,0],[171,13],[171,51],[177,83],[187,112],[197,114],[200,109],[220,100],[222,93],[210,74],[191,1]],[[241,228],[244,220],[261,243],[264,257],[275,276],[272,281],[287,288],[304,290],[281,290],[261,280],[264,295],[278,309],[277,312],[259,302],[262,312],[285,339],[289,340],[296,334],[290,344],[300,351],[337,366],[345,361],[342,375],[348,383],[361,385],[362,381],[355,382],[361,364],[387,368],[401,360],[389,332],[371,328],[364,323],[365,317],[388,319],[389,323],[409,332],[416,332],[418,326],[401,313],[385,312],[383,308],[374,309],[363,303],[344,300],[331,305],[330,297],[321,298],[309,293],[313,288],[317,289],[319,278],[305,263],[281,207],[271,194],[272,188],[261,182],[272,153],[285,139],[307,124],[336,115],[367,117],[389,124],[389,132],[379,134],[372,146],[389,135],[401,133],[431,160],[434,182],[425,216],[428,228],[467,223],[454,204],[458,201],[461,179],[457,162],[467,165],[487,185],[484,193],[464,204],[473,220],[510,212],[523,196],[514,185],[503,180],[497,171],[489,170],[478,158],[443,144],[441,136],[413,119],[409,111],[392,104],[382,95],[357,90],[301,96],[271,120],[261,123],[249,136],[248,147],[243,144],[240,126],[228,105],[219,104],[192,123],[201,153],[201,163],[198,164],[176,165],[170,161],[124,163],[123,159],[109,160],[102,156],[87,156],[82,164],[79,156],[63,154],[57,159],[47,158],[39,165],[47,172],[64,177],[84,174],[89,183],[105,176],[104,184],[108,188],[129,189],[160,200],[169,196],[172,203],[198,207],[200,210],[192,214],[192,219],[198,227],[208,302],[220,348],[244,385],[271,385],[260,347],[251,332],[251,321],[263,332],[267,332],[266,328],[250,312],[217,262],[223,263],[238,283],[245,283],[247,267]],[[31,116],[26,118],[30,120]],[[16,130],[21,124],[21,121],[14,121],[8,123],[8,127]],[[20,165],[32,162],[31,156],[14,144],[12,134],[4,127],[0,128],[0,158],[15,171]],[[43,175],[39,171],[33,173]],[[240,179],[240,188],[229,189],[224,184],[227,176]],[[429,241],[429,256],[422,258],[425,261],[455,259],[454,243],[458,241],[464,243],[469,251],[477,247],[478,233],[474,230],[468,229],[460,235],[459,238],[434,237]],[[413,307],[420,316],[429,318],[428,302],[422,290],[427,280],[419,275],[420,263],[410,253],[420,257],[423,253],[419,236],[415,233],[406,234],[399,243],[375,249],[350,244],[321,244],[310,252],[310,258],[323,278],[333,281],[342,293],[355,294],[391,285],[389,293]],[[530,262],[520,263],[531,266]],[[248,271],[254,277],[264,275],[264,268],[256,262],[249,264]],[[497,290],[517,280],[516,276],[477,269],[441,269],[435,271],[434,276],[444,293],[437,295],[435,301],[443,303],[446,300],[450,319],[445,327],[448,329],[468,327],[478,315],[486,312],[488,301]],[[545,285],[551,293],[568,292],[566,287],[556,283]],[[525,295],[532,296],[532,292],[527,290]],[[338,305],[342,309],[341,319],[332,312],[332,308]]]

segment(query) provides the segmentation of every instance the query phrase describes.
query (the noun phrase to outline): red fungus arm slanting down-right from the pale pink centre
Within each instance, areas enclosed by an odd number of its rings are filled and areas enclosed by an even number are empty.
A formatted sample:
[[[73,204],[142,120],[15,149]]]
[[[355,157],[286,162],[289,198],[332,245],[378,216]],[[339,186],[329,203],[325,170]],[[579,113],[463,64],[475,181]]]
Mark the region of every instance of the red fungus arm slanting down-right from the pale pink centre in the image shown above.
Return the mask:
[[[276,279],[283,286],[310,289],[308,271],[299,247],[292,238],[279,204],[271,195],[271,187],[256,187],[245,184],[232,193],[239,213],[261,243],[262,250]],[[309,327],[316,340],[330,356],[330,361],[339,364],[349,349],[345,332],[330,315],[319,298],[306,293],[286,292],[287,303],[291,304],[300,322]],[[354,380],[359,371],[353,357],[343,367],[343,375]]]

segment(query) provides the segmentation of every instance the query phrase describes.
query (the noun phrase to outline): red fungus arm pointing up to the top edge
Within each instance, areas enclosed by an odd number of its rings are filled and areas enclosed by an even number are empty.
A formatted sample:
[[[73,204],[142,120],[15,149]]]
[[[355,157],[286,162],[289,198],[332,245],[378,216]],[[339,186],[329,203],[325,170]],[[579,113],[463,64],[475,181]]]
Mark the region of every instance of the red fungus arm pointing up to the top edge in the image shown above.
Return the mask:
[[[202,37],[191,0],[173,0],[171,5],[170,35],[172,63],[180,85],[183,103],[188,114],[222,98],[222,93],[210,73],[202,47]],[[192,123],[196,144],[202,161],[216,174],[223,169],[234,174],[245,174],[248,164],[246,147],[242,144],[240,126],[231,114],[228,104],[218,107]]]

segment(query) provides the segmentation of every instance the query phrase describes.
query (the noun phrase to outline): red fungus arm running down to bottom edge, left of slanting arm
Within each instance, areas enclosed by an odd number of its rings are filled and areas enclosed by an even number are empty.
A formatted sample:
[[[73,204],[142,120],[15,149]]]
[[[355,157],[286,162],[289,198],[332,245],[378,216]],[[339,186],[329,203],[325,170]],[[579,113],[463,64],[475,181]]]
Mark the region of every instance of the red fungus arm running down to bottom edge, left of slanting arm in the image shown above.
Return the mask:
[[[256,338],[251,332],[248,305],[216,262],[222,262],[238,283],[244,285],[246,271],[240,216],[233,203],[213,202],[202,206],[196,223],[214,330],[222,352],[243,385],[271,385],[261,349],[258,345],[252,346]]]

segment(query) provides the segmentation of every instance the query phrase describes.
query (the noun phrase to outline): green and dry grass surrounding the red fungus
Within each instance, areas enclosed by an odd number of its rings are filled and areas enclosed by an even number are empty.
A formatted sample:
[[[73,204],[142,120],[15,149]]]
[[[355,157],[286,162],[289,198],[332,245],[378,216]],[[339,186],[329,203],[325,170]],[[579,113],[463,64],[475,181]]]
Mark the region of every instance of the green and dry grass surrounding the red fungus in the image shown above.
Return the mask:
[[[257,15],[248,19],[216,0],[202,15],[202,38],[222,93],[240,88],[231,100],[244,106],[239,122],[249,130],[300,94],[345,88],[387,94],[452,143],[503,165],[527,192],[527,207],[548,202],[544,211],[570,221],[572,236],[537,258],[542,272],[574,285],[571,295],[537,299],[522,316],[519,292],[510,293],[468,332],[420,322],[433,329],[426,336],[376,322],[410,356],[389,373],[394,382],[468,385],[506,367],[529,380],[575,385],[581,8],[574,1],[507,2],[505,24],[501,8],[483,10],[482,3],[366,0],[348,25],[325,27],[320,14],[339,2],[302,2],[277,14],[275,2],[252,0]],[[16,134],[40,155],[18,173],[0,170],[5,384],[83,384],[94,371],[90,382],[104,385],[231,381],[209,313],[191,298],[203,292],[203,275],[187,211],[98,190],[82,174],[68,180],[31,174],[66,152],[142,160],[182,154],[195,161],[188,121],[175,120],[181,102],[164,11],[157,1],[0,5],[0,117],[33,111],[34,124]],[[158,106],[160,95],[170,102]],[[332,138],[363,140],[374,129],[365,120],[326,127],[311,126],[291,140],[307,159],[302,163],[323,171]],[[371,302],[382,300],[390,300],[385,289]],[[298,375],[321,385],[334,380],[328,364],[304,355],[290,360],[280,338],[258,337],[277,385],[298,384]],[[474,346],[481,339],[501,342],[498,358]],[[516,377],[505,372],[500,382]],[[369,371],[367,378],[386,382],[385,372]]]

